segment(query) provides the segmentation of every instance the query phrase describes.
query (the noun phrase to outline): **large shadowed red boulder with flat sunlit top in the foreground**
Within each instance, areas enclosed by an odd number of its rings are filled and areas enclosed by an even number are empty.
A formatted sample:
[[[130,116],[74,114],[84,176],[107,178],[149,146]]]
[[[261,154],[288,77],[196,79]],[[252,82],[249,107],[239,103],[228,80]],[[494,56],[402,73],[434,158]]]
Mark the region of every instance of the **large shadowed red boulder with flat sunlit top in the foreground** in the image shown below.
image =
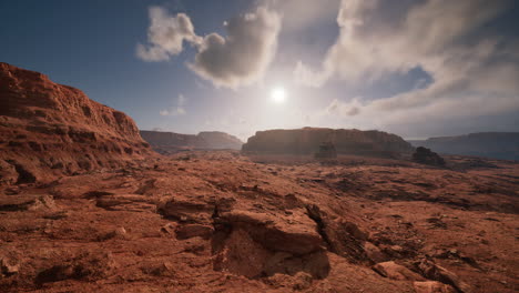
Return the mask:
[[[246,277],[295,275],[324,279],[330,267],[315,223],[303,213],[294,218],[248,211],[222,213],[215,219],[213,267]]]

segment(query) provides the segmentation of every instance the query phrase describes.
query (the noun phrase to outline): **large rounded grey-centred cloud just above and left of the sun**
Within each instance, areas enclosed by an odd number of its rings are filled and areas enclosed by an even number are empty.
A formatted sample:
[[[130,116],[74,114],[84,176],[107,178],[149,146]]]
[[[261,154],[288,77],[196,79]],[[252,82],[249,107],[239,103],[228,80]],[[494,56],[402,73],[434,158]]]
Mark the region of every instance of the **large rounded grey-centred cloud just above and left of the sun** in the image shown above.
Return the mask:
[[[281,17],[266,8],[231,19],[227,37],[206,36],[190,68],[215,87],[237,88],[258,81],[274,58]]]

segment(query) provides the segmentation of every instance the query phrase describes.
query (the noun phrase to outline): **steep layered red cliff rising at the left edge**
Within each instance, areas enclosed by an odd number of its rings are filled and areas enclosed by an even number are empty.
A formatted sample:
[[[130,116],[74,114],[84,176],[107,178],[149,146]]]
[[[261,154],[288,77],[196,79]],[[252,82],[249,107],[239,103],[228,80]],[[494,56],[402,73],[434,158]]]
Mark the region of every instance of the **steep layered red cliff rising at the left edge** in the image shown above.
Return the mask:
[[[152,154],[133,120],[39,72],[0,63],[0,183],[125,165]]]

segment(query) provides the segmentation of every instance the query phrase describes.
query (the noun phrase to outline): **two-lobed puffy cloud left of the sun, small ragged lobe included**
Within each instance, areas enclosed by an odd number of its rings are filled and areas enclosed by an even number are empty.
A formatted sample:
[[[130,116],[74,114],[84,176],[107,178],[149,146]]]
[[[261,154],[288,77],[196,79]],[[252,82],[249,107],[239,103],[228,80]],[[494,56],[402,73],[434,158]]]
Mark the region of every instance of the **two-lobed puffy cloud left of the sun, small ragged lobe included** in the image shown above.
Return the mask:
[[[183,42],[197,51],[187,65],[215,87],[236,89],[261,80],[277,48],[281,16],[265,7],[224,22],[227,36],[195,34],[191,19],[170,16],[163,8],[150,9],[149,46],[141,43],[136,54],[145,61],[165,61],[183,50]]]

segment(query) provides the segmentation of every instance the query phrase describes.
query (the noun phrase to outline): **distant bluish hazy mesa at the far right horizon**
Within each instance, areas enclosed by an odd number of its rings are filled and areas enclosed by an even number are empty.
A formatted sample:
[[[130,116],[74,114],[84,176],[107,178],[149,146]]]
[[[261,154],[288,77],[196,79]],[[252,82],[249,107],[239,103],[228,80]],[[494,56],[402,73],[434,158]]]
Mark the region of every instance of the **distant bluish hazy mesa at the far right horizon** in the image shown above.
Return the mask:
[[[477,155],[502,160],[519,160],[519,132],[480,132],[458,137],[410,140],[445,154]]]

